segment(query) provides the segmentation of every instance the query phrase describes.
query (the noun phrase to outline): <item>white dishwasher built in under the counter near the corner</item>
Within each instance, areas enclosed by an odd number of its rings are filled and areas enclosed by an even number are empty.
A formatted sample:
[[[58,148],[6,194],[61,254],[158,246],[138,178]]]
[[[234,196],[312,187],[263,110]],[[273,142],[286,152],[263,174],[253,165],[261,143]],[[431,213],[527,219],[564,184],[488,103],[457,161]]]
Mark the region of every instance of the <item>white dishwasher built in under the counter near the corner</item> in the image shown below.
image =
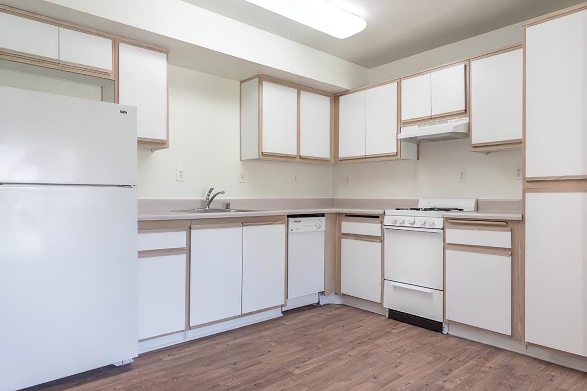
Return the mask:
[[[315,304],[324,291],[323,216],[288,219],[288,300],[285,310]]]

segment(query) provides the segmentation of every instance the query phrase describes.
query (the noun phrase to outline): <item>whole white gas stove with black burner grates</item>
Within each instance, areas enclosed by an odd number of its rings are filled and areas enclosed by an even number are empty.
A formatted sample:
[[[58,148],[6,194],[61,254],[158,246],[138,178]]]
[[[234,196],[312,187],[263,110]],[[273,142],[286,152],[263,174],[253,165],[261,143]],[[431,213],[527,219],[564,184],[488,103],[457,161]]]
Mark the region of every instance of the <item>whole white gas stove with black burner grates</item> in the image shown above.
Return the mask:
[[[383,306],[388,317],[443,329],[443,213],[477,210],[476,199],[420,199],[385,211]]]

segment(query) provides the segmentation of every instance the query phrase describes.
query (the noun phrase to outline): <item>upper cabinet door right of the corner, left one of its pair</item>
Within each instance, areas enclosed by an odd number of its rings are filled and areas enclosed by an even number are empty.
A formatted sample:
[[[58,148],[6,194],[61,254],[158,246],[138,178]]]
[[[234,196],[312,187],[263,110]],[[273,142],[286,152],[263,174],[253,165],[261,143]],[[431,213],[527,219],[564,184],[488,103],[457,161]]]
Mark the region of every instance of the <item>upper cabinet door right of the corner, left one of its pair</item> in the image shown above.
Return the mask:
[[[338,105],[338,157],[365,156],[366,91],[343,95]]]

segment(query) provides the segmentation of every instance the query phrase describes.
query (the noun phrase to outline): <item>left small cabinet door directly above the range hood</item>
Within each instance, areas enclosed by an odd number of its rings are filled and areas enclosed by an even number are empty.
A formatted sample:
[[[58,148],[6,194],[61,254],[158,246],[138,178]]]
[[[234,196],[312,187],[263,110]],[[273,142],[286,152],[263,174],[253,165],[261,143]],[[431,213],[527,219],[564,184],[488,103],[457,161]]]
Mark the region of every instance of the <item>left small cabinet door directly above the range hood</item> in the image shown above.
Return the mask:
[[[430,118],[430,73],[402,80],[402,121]]]

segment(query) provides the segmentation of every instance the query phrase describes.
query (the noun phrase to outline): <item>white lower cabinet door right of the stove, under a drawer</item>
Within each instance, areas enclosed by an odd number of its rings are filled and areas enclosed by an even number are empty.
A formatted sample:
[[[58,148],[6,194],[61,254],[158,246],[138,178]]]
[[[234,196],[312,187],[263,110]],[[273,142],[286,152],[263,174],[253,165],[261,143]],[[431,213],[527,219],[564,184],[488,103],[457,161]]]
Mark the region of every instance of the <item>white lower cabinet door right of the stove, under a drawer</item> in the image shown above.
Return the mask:
[[[446,251],[446,318],[511,335],[511,256]]]

